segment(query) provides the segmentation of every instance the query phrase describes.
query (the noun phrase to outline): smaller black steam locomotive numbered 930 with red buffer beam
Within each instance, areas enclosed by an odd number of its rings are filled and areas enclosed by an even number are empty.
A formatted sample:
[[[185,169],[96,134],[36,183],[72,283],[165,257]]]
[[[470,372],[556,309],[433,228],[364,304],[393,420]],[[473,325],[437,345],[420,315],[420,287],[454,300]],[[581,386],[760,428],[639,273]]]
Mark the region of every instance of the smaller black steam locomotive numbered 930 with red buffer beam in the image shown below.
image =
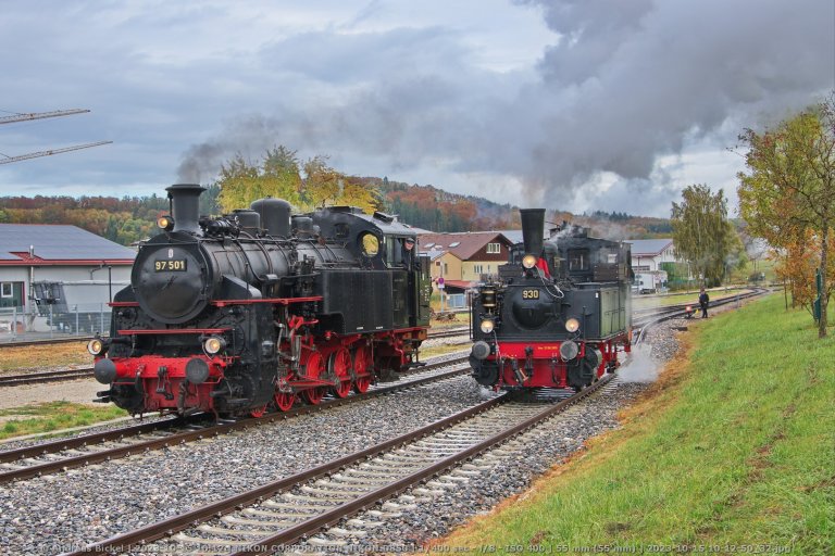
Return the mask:
[[[496,389],[579,390],[630,351],[630,248],[568,224],[544,241],[545,210],[521,213],[523,244],[474,298],[473,376]]]

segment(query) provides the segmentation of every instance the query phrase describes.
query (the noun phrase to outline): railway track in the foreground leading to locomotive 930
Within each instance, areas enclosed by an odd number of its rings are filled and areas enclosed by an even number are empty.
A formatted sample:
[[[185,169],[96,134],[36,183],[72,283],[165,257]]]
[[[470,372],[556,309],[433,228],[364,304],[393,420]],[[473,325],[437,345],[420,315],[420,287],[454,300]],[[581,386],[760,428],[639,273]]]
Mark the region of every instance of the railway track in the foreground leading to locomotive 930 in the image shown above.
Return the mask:
[[[515,403],[502,395],[349,456],[70,554],[130,548],[165,554],[271,554],[302,538],[314,548],[338,548],[347,544],[338,538],[362,538],[365,529],[381,522],[351,520],[346,522],[350,529],[327,529],[334,523],[370,507],[379,507],[370,513],[378,519],[408,510],[414,498],[386,501],[410,488],[432,496],[465,483],[479,472],[478,466],[463,465],[443,479],[431,479],[518,438],[600,390],[612,377],[556,404]],[[323,531],[327,538],[317,536]],[[139,546],[158,540],[163,542]]]

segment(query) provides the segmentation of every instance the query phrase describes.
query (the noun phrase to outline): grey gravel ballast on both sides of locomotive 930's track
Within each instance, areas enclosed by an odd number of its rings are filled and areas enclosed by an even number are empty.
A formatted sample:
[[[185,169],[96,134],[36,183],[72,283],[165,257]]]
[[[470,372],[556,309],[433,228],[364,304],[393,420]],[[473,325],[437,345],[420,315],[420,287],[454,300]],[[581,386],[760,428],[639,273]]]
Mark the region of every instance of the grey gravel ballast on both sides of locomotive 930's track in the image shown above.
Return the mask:
[[[672,330],[682,326],[676,323],[652,332],[649,361],[664,361],[675,352]],[[386,520],[354,544],[413,545],[445,534],[524,490],[588,438],[616,427],[618,409],[644,388],[643,381],[620,380],[611,395],[595,396],[552,419],[533,432],[538,435],[533,441],[515,441],[507,458],[493,462],[490,470]],[[490,395],[470,377],[460,377],[275,426],[0,486],[0,554],[77,549],[391,439]]]

